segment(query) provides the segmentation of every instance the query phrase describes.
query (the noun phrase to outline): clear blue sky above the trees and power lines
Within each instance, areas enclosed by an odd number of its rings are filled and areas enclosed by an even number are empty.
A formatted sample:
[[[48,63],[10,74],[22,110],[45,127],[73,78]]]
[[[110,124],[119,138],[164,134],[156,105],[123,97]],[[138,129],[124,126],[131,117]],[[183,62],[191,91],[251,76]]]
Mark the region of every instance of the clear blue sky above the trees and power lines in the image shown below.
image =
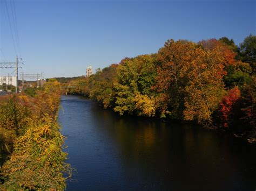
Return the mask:
[[[156,53],[167,39],[228,37],[236,44],[256,34],[256,1],[60,1],[0,0],[0,62],[15,61],[26,74],[71,77]],[[12,12],[15,1],[20,49]],[[0,69],[0,75],[11,70]]]

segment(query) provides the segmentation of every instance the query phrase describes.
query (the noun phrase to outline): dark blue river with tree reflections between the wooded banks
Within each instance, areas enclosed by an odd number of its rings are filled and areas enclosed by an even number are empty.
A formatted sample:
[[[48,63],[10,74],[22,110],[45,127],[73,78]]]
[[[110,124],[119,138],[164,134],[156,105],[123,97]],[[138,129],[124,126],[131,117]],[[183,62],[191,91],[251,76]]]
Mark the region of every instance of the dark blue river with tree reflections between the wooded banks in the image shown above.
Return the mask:
[[[69,162],[67,190],[252,190],[256,149],[191,125],[120,117],[62,96],[59,122]]]

